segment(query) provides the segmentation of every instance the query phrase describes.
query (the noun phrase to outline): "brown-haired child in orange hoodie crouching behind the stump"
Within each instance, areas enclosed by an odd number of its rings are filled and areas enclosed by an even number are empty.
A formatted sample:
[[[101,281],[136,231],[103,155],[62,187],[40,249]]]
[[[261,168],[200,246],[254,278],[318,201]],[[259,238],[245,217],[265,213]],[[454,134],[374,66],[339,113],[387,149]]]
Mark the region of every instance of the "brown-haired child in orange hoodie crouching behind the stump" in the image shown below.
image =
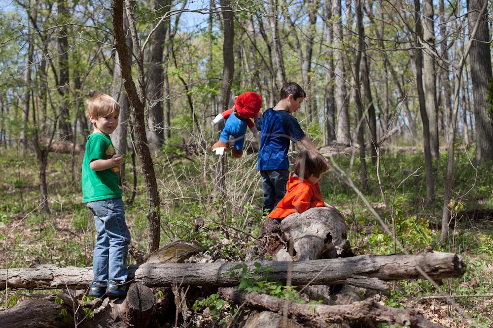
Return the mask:
[[[335,207],[322,200],[318,181],[327,171],[327,161],[317,151],[303,150],[296,158],[294,171],[289,173],[286,194],[264,221],[263,233],[278,233],[281,220],[292,213],[303,213],[315,207]]]

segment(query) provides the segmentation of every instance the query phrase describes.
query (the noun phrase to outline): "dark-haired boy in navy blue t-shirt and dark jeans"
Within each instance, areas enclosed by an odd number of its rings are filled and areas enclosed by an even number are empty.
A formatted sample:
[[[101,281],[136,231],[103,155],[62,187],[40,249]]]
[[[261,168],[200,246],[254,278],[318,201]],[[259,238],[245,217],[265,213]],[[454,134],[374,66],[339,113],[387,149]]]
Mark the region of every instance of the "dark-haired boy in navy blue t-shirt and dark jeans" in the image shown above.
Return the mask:
[[[264,191],[263,213],[270,213],[286,193],[289,177],[287,151],[291,140],[300,141],[306,149],[317,147],[308,138],[291,114],[300,109],[306,92],[294,82],[286,83],[280,91],[280,101],[269,108],[264,115],[255,120],[260,131],[257,169],[262,177]]]

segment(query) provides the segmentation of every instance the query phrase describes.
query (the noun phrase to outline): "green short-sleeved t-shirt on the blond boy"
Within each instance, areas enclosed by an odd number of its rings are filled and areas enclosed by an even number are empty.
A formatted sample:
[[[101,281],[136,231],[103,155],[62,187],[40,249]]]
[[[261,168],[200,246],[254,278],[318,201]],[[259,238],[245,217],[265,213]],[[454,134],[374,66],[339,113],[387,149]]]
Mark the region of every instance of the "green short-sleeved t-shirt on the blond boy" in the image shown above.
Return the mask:
[[[121,198],[118,185],[118,166],[94,171],[89,163],[95,159],[108,159],[115,154],[111,139],[104,133],[93,133],[87,138],[82,161],[82,202],[94,202],[108,198]]]

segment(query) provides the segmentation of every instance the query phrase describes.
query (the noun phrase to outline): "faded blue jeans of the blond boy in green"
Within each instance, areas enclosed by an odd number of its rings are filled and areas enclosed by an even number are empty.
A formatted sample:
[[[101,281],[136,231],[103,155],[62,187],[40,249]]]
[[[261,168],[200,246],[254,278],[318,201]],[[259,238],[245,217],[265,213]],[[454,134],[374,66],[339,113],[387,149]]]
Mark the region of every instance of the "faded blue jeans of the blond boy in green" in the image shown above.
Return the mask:
[[[125,223],[121,198],[89,202],[94,214],[98,237],[94,246],[93,271],[95,285],[106,285],[109,280],[123,283],[127,280],[128,245],[130,232]]]

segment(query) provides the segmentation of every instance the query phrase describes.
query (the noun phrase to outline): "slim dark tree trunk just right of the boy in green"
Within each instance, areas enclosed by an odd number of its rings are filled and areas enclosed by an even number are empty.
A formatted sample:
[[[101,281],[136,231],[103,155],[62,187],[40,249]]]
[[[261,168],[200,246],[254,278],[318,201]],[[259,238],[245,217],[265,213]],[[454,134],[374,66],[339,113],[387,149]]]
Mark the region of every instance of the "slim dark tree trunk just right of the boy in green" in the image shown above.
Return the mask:
[[[152,252],[159,248],[159,237],[161,231],[161,217],[159,189],[157,187],[154,164],[147,147],[147,137],[145,135],[144,121],[144,72],[142,63],[142,54],[133,21],[132,6],[127,0],[127,16],[132,30],[132,39],[134,44],[134,54],[137,58],[139,91],[137,90],[132,78],[132,67],[127,50],[125,31],[123,29],[123,0],[111,0],[111,16],[113,20],[113,34],[115,38],[115,47],[120,58],[121,77],[124,80],[125,90],[127,91],[130,105],[134,109],[135,124],[135,146],[141,158],[142,173],[145,181],[145,189],[148,199],[147,220],[149,222],[149,234],[147,238],[147,249]]]

